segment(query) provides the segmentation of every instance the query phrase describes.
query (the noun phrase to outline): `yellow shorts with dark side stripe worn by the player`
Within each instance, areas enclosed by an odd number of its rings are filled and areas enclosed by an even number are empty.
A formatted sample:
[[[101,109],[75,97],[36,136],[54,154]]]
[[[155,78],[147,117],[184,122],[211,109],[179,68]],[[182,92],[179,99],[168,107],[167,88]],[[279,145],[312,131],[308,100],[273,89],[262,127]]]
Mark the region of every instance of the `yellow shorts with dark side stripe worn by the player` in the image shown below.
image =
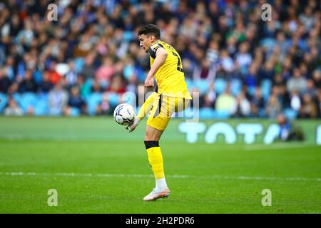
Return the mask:
[[[148,116],[147,125],[165,130],[173,113],[179,113],[188,107],[190,100],[170,97],[162,94],[153,96],[153,108]]]

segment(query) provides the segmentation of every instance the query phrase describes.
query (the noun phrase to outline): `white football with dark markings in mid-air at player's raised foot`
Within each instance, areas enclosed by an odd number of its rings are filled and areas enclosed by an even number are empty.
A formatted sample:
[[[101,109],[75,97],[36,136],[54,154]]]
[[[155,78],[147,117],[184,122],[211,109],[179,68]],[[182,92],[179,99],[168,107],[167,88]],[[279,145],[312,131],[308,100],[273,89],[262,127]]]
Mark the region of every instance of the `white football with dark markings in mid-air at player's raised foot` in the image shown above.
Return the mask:
[[[128,103],[120,104],[113,111],[113,118],[120,125],[129,125],[135,118],[135,110]]]

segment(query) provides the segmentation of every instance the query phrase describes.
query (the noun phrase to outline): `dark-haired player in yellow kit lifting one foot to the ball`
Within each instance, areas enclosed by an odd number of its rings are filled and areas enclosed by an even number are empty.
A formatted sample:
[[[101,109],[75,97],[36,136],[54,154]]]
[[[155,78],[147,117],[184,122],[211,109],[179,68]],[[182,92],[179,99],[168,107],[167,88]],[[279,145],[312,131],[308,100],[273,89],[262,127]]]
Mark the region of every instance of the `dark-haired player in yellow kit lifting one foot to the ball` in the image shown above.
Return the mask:
[[[161,31],[153,24],[147,24],[138,31],[140,46],[150,55],[151,70],[144,86],[156,91],[142,105],[135,120],[126,129],[135,130],[138,123],[149,113],[144,138],[148,161],[156,179],[156,187],[144,197],[145,201],[168,197],[170,190],[166,184],[163,156],[158,142],[174,112],[185,109],[192,99],[185,83],[182,61],[178,52],[168,43],[161,41]]]

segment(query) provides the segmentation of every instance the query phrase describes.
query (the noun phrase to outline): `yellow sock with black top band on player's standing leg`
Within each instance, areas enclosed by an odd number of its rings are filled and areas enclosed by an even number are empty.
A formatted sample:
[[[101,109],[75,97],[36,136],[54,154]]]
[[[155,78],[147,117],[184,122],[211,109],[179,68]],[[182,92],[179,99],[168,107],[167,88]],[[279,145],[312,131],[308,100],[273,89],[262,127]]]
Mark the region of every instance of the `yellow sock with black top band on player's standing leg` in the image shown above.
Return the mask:
[[[158,141],[145,141],[148,161],[156,179],[165,177],[163,167],[163,156]]]

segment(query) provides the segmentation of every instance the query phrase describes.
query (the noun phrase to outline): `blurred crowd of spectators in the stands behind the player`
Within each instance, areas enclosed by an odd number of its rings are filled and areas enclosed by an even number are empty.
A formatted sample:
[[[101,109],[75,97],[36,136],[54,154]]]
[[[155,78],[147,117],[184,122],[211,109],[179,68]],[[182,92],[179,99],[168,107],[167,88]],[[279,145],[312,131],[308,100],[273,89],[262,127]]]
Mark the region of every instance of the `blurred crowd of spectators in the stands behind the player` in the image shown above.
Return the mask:
[[[321,118],[317,0],[1,1],[0,113],[113,113],[143,86],[137,31],[150,23],[180,53],[200,117]]]

